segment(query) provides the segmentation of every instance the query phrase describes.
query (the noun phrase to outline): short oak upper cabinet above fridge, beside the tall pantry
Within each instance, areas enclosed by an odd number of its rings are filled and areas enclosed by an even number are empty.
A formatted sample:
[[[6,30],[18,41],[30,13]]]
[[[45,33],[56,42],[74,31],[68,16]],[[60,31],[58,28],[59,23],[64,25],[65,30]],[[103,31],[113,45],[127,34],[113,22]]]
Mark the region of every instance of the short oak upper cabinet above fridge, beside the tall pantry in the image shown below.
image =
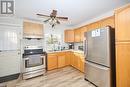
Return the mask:
[[[101,20],[100,23],[101,23],[101,27],[111,26],[112,28],[115,28],[115,17],[111,16],[111,17],[105,18]]]

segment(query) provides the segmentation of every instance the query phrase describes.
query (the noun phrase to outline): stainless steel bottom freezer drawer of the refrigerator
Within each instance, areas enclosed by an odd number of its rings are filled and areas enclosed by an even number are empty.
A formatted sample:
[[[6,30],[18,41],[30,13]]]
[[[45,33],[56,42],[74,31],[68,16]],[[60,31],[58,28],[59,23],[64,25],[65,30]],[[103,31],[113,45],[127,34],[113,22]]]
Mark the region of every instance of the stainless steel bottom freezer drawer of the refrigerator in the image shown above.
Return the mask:
[[[111,87],[110,69],[104,66],[85,63],[85,78],[98,87]]]

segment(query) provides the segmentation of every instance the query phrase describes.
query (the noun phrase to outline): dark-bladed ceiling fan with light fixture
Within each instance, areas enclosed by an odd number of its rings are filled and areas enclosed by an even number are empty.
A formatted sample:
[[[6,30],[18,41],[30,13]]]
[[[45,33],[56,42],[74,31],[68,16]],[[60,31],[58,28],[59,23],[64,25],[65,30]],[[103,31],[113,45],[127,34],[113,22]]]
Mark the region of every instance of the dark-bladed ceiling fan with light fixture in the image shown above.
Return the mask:
[[[57,17],[57,10],[52,10],[50,15],[44,15],[44,14],[36,14],[40,17],[47,17],[48,19],[45,20],[44,22],[47,23],[49,22],[50,25],[52,26],[52,28],[56,25],[56,24],[60,24],[59,20],[63,20],[63,21],[67,21],[68,17]]]

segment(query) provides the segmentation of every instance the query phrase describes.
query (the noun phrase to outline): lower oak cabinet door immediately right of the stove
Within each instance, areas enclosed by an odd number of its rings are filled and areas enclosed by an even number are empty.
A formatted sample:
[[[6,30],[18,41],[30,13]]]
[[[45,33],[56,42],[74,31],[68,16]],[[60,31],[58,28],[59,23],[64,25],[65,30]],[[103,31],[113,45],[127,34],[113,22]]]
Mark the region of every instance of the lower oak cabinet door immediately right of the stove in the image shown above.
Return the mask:
[[[58,68],[58,60],[56,54],[48,54],[47,57],[47,69],[53,70]]]

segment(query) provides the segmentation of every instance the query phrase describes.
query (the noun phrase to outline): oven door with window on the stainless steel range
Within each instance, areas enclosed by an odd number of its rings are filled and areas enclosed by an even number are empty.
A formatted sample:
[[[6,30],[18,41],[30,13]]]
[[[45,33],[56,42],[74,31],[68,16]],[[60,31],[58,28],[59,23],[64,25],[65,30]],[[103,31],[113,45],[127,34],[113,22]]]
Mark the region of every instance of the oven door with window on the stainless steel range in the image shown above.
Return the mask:
[[[24,58],[24,72],[30,72],[45,68],[45,56],[41,54],[28,55]]]

